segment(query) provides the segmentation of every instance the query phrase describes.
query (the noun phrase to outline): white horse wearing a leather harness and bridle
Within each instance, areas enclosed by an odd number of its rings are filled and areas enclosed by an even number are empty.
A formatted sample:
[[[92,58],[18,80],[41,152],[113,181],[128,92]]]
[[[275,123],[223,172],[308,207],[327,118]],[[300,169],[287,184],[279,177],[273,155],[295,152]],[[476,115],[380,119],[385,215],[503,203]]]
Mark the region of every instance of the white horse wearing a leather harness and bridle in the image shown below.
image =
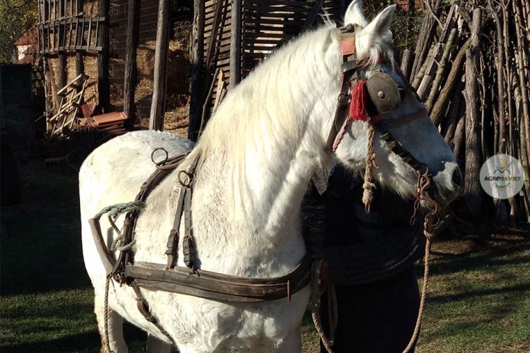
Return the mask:
[[[389,26],[395,6],[367,23],[355,0],[345,14],[356,32],[357,57],[367,57],[366,76],[392,61]],[[333,158],[326,152],[337,94],[340,92],[340,43],[327,25],[303,34],[259,65],[230,90],[190,159],[201,155],[193,188],[193,231],[198,267],[235,276],[271,278],[291,272],[306,248],[300,232],[300,204],[318,165]],[[398,85],[402,79],[390,72]],[[400,106],[384,119],[399,119],[422,108],[406,93]],[[353,170],[365,167],[366,123],[349,125],[335,152]],[[449,147],[426,115],[393,128],[393,135],[416,159],[429,166],[437,186],[437,201],[448,203],[458,191],[460,173]],[[132,201],[154,170],[150,154],[165,148],[170,154],[188,151],[193,143],[173,134],[131,132],[97,148],[79,174],[83,252],[95,288],[95,313],[104,341],[106,272],[88,227],[88,219],[105,206]],[[411,197],[416,191],[413,169],[393,154],[376,134],[375,154],[380,185]],[[188,162],[189,164],[189,162]],[[186,161],[181,168],[186,167]],[[166,241],[176,212],[178,170],[147,199],[135,230],[135,261],[166,263]],[[458,179],[458,177],[456,178]],[[118,219],[117,224],[121,222]],[[115,233],[108,223],[108,246]],[[179,249],[182,248],[181,239]],[[184,266],[182,256],[178,264]],[[142,289],[151,312],[180,352],[300,352],[300,325],[310,288],[291,299],[263,303],[226,303],[193,296]],[[136,307],[133,290],[110,283],[108,338],[115,353],[127,352],[121,332],[123,319],[161,341],[169,342]],[[104,341],[103,351],[106,351]]]

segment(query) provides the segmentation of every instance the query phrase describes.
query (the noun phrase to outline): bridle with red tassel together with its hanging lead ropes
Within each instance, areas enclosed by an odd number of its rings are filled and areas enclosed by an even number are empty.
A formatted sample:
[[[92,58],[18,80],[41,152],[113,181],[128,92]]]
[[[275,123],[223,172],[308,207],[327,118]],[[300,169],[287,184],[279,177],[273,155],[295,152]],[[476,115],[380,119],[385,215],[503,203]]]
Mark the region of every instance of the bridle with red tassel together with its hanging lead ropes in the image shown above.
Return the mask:
[[[364,69],[370,63],[366,58],[357,59],[355,56],[355,30],[357,30],[357,27],[352,24],[337,28],[336,30],[340,36],[340,47],[343,58],[341,65],[342,86],[339,97],[337,98],[337,108],[335,110],[333,124],[331,125],[331,130],[326,141],[326,150],[330,153],[335,152],[338,145],[340,144],[340,141],[342,141],[342,137],[344,137],[344,134],[346,133],[346,128],[351,121],[367,121],[370,124],[370,128],[369,148],[367,152],[368,155],[366,157],[366,172],[364,175],[363,185],[363,189],[365,189],[364,192],[366,192],[366,184],[369,184],[369,188],[373,187],[373,183],[371,182],[371,172],[369,172],[369,170],[371,169],[371,165],[374,163],[375,159],[375,154],[373,154],[373,136],[374,132],[377,131],[380,133],[381,139],[386,142],[387,147],[392,152],[397,154],[402,161],[409,164],[418,177],[418,183],[416,185],[417,192],[414,203],[414,214],[411,218],[411,224],[413,224],[415,221],[415,215],[418,208],[420,207],[421,200],[425,200],[432,207],[432,210],[430,210],[424,216],[424,235],[426,237],[424,281],[422,286],[418,319],[416,320],[414,332],[409,341],[409,345],[407,345],[407,347],[403,350],[404,353],[408,353],[418,340],[418,334],[420,333],[422,312],[426,298],[426,288],[429,281],[429,254],[431,250],[431,232],[429,230],[433,229],[438,223],[438,221],[433,221],[433,219],[438,219],[438,203],[426,195],[426,190],[431,185],[431,175],[429,173],[429,168],[424,163],[421,163],[415,159],[413,155],[407,151],[401,145],[401,143],[395,139],[395,137],[393,137],[388,128],[394,128],[406,123],[410,123],[411,121],[421,119],[426,114],[426,111],[425,108],[422,108],[417,112],[406,114],[399,119],[381,118],[381,114],[391,112],[399,107],[402,101],[403,93],[411,92],[415,94],[418,100],[420,99],[414,88],[408,83],[401,70],[397,67],[395,68],[395,72],[402,78],[402,81],[406,85],[405,88],[400,88],[397,86],[392,77],[385,72],[386,70],[384,70],[384,68],[380,68],[380,70],[373,74],[370,79],[364,78]],[[360,74],[362,75],[362,78],[360,77]],[[367,180],[367,176],[369,176],[370,180]],[[366,212],[369,212],[369,203],[367,204],[365,202],[364,193],[362,201],[365,205]],[[333,284],[329,285],[328,290],[332,290],[330,294],[328,294],[329,301],[330,298],[333,297],[333,294],[331,294],[334,292]],[[331,299],[331,302],[333,301],[334,299]],[[328,305],[330,304],[328,303]],[[333,316],[330,314],[330,317],[332,317],[333,320],[336,320],[336,307],[335,312],[332,314]],[[333,331],[336,327],[336,321],[335,323],[332,323],[333,320],[330,319],[329,323],[330,337],[333,337]],[[317,318],[314,310],[313,321],[315,323],[315,327],[317,327],[317,331],[319,331],[320,318]],[[327,339],[326,335],[320,331],[319,334],[326,350],[329,353],[333,353],[331,347],[333,345],[333,339]]]

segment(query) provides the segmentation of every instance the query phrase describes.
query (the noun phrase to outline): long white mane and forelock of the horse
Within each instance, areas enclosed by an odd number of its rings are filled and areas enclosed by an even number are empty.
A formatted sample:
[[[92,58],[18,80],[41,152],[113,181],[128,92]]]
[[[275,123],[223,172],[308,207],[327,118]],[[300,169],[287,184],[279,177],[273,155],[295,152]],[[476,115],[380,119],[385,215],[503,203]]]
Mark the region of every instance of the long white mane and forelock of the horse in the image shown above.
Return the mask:
[[[318,104],[319,97],[337,90],[339,85],[342,57],[339,43],[331,35],[333,29],[334,23],[327,23],[306,32],[257,65],[246,79],[229,90],[200,137],[193,151],[201,155],[200,163],[214,153],[214,158],[224,159],[229,166],[227,178],[232,183],[227,185],[230,188],[227,194],[234,198],[235,213],[246,216],[246,208],[255,207],[261,201],[255,195],[265,182],[249,179],[253,176],[249,171],[261,170],[263,180],[279,178],[263,170],[263,166],[255,165],[255,161],[267,159],[270,162],[267,165],[274,167],[277,174],[274,162],[279,157],[290,161],[300,148],[309,147],[300,146],[304,134],[311,132],[315,137],[311,144],[322,146],[317,138],[327,128],[307,118],[315,113],[325,114],[324,125],[333,119],[333,110],[311,105],[311,102]],[[392,49],[385,39],[377,39],[365,31],[357,32],[357,52],[358,57],[368,56],[371,65],[377,65],[382,57],[393,60]],[[336,78],[336,85],[315,90],[315,81],[331,76]],[[328,161],[323,149],[311,149],[315,150],[313,157],[319,163]],[[271,151],[276,152],[271,154]],[[284,165],[282,175],[288,174],[286,168],[289,165]]]

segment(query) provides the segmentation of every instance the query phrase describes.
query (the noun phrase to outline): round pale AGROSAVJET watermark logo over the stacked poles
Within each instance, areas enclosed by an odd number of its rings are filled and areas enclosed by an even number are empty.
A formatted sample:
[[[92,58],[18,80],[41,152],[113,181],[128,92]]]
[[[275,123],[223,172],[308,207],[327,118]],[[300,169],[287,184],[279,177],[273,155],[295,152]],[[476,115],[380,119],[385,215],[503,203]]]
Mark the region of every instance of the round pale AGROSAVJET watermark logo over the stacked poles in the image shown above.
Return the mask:
[[[480,185],[494,199],[509,199],[515,196],[523,184],[522,165],[509,154],[495,154],[480,168]]]

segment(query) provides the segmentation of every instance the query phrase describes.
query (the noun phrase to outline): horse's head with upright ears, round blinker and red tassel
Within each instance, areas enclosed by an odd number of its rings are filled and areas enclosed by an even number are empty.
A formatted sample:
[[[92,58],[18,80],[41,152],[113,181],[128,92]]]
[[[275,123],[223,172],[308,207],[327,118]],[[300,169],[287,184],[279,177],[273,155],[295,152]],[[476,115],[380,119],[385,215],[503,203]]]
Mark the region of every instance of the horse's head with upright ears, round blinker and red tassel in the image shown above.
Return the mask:
[[[357,67],[344,74],[344,80],[351,82],[352,92],[347,119],[352,118],[353,112],[358,120],[346,120],[350,123],[343,125],[344,131],[337,132],[337,139],[332,132],[328,142],[335,140],[335,155],[341,163],[355,170],[364,169],[372,124],[378,167],[374,171],[375,179],[403,196],[413,196],[418,182],[415,170],[424,172],[428,168],[434,186],[430,196],[445,205],[458,194],[462,174],[453,152],[394,63],[389,44],[394,11],[395,6],[389,6],[369,23],[362,14],[360,0],[353,0],[346,10],[344,21],[353,26],[340,35],[342,50],[343,54],[344,46],[353,46],[355,50],[348,57],[346,48],[344,58],[353,63],[343,65],[342,71]],[[348,110],[345,111],[347,116]],[[338,123],[342,121],[338,119]]]

